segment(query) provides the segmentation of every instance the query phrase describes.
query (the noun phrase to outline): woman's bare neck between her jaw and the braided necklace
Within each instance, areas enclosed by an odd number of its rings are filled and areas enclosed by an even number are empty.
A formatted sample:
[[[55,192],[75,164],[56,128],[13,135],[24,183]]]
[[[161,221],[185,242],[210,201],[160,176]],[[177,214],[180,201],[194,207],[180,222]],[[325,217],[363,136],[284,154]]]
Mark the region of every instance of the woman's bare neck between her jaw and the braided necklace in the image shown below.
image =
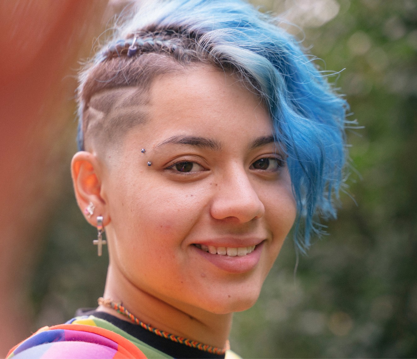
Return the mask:
[[[223,348],[229,337],[232,313],[214,314],[186,303],[162,298],[133,285],[113,266],[109,266],[103,297],[122,303],[134,316],[154,328],[204,344]],[[129,321],[113,309],[99,306],[120,319]]]

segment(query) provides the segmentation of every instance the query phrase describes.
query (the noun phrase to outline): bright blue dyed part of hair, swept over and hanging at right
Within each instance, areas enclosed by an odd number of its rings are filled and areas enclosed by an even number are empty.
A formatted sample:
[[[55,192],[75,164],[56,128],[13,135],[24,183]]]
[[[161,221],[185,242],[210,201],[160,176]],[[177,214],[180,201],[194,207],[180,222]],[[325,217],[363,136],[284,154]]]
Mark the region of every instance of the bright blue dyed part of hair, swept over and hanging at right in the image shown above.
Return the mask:
[[[168,0],[142,3],[111,42],[139,30],[174,29],[196,36],[213,63],[233,68],[254,84],[274,123],[277,143],[286,152],[298,216],[294,238],[301,251],[320,217],[336,217],[335,202],[347,158],[344,124],[348,105],[327,83],[298,41],[276,19],[240,0]],[[99,52],[93,65],[103,61]],[[88,78],[80,75],[80,91]],[[251,89],[249,89],[251,90]],[[83,103],[80,101],[80,123]],[[80,126],[78,141],[83,146]]]

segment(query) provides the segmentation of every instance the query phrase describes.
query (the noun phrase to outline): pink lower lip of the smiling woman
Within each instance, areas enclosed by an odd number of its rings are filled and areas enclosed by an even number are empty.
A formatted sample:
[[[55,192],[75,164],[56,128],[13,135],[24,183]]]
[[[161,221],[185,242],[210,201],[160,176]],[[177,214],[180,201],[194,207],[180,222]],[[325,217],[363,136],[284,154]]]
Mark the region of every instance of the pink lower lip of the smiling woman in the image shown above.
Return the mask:
[[[217,268],[229,273],[242,274],[251,271],[254,269],[256,264],[258,264],[259,259],[261,258],[263,245],[264,242],[261,242],[255,247],[253,252],[246,254],[245,256],[234,257],[230,257],[227,254],[211,254],[193,245],[191,245],[191,247],[211,264],[214,264]]]

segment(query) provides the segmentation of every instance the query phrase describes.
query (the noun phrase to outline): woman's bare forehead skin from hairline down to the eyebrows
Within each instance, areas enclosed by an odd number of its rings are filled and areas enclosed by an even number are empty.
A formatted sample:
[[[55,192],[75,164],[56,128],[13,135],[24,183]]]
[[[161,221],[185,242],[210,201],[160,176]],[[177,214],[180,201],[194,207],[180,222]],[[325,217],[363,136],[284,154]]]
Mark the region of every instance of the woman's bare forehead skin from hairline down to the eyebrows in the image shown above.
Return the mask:
[[[259,97],[236,76],[208,66],[156,78],[148,96],[147,121],[126,136],[128,151],[192,145],[190,138],[215,143],[216,151],[246,151],[256,139],[273,136]]]

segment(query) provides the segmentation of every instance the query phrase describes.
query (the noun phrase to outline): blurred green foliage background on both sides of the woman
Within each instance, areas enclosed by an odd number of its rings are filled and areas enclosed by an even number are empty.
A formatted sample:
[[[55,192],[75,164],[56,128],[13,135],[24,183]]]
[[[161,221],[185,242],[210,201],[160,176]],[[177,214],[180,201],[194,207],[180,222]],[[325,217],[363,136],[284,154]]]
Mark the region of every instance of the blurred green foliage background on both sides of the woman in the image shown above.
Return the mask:
[[[251,358],[417,357],[417,3],[252,3],[299,25],[284,27],[324,59],[320,68],[337,72],[324,74],[364,129],[348,129],[354,169],[329,236],[317,238],[297,268],[286,241],[258,303],[235,315],[232,348]],[[33,329],[96,306],[103,293],[108,256],[96,256],[95,229],[75,203],[75,150],[70,139],[62,194],[33,273]]]

